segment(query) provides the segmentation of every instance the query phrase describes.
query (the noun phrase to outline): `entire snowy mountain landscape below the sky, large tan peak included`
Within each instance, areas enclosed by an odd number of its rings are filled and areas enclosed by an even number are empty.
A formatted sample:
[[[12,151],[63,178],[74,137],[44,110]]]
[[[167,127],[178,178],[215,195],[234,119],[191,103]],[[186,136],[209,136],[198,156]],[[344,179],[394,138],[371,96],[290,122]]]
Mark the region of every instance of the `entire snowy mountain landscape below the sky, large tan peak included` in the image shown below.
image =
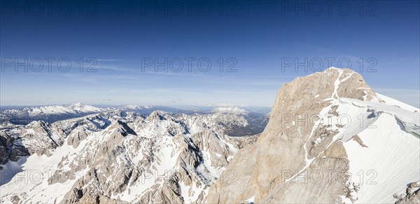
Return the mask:
[[[269,115],[155,108],[1,111],[0,202],[420,202],[419,109],[350,69],[285,84]]]

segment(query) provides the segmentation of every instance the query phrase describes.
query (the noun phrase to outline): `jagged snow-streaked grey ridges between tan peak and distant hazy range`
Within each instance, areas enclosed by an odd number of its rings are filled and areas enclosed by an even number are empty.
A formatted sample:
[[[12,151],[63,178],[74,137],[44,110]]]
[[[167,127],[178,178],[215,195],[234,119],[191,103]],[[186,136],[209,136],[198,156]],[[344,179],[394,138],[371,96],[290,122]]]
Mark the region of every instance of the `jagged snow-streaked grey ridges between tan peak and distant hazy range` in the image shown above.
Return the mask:
[[[225,135],[243,116],[106,111],[0,131],[0,200],[202,202],[239,149]]]

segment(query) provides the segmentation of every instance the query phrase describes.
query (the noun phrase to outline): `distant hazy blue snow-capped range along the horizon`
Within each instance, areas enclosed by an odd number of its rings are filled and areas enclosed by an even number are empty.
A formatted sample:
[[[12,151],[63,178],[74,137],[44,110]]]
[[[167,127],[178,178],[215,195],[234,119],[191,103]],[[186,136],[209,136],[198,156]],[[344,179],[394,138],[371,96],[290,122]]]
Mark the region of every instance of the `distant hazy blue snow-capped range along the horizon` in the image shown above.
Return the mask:
[[[135,112],[138,114],[149,115],[153,111],[165,111],[169,114],[235,114],[244,116],[248,120],[249,126],[241,130],[241,132],[231,132],[232,135],[254,135],[262,132],[268,122],[269,109],[266,107],[194,107],[194,109],[179,109],[174,107],[163,106],[139,106],[139,105],[122,105],[122,106],[103,106],[95,107],[89,104],[68,104],[68,105],[49,105],[37,107],[1,107],[0,109],[0,128],[10,125],[27,125],[31,121],[45,121],[54,123],[71,118],[87,116],[89,114],[97,114],[106,111],[125,111]]]

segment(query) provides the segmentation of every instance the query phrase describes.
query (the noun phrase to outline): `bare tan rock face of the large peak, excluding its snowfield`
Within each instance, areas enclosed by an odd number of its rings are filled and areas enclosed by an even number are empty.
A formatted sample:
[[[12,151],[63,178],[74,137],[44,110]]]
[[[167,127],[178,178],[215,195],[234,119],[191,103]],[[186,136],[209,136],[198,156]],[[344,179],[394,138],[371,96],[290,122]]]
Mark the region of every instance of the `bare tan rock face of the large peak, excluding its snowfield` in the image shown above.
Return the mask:
[[[219,179],[206,202],[244,203],[250,198],[255,203],[356,201],[360,186],[351,180],[351,161],[343,142],[353,138],[360,147],[369,145],[356,135],[365,127],[341,120],[353,111],[345,112],[344,107],[353,104],[344,98],[383,103],[362,76],[350,69],[330,68],[286,83],[257,142],[239,150],[224,171],[235,172],[232,182]],[[354,109],[371,123],[378,118],[368,108]]]

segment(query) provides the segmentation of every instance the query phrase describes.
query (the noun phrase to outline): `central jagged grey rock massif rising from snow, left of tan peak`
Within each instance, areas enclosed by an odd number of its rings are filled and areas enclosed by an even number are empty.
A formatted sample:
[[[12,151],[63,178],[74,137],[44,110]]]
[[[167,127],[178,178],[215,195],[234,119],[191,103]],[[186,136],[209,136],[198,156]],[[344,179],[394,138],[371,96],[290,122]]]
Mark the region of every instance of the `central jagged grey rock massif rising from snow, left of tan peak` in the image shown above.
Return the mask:
[[[73,157],[73,160],[64,158],[59,163],[59,167],[69,164],[71,171],[65,174],[57,171],[56,175],[50,178],[50,184],[57,182],[57,178],[71,179],[76,172],[90,169],[87,175],[78,179],[73,185],[73,190],[64,196],[64,202],[69,200],[69,203],[81,202],[83,198],[80,197],[81,192],[81,195],[106,196],[106,198],[137,193],[134,200],[130,201],[182,203],[186,201],[181,195],[181,191],[185,189],[181,189],[180,182],[194,183],[199,189],[207,188],[218,176],[214,175],[211,166],[228,165],[228,157],[234,153],[232,152],[234,149],[224,142],[226,139],[211,128],[196,133],[190,132],[192,131],[188,130],[190,126],[182,121],[157,112],[143,120],[144,118],[135,118],[134,121],[122,119],[113,121],[108,128],[100,132],[106,136],[98,137],[100,140],[92,140],[83,151],[80,151],[80,155]],[[143,131],[161,132],[151,136],[145,135]],[[234,147],[234,144],[231,145]],[[175,162],[162,161],[166,159],[159,156],[162,151],[171,154]],[[204,154],[204,151],[207,154]],[[138,155],[141,155],[141,159],[137,159]],[[204,165],[209,161],[211,166]],[[172,168],[176,171],[163,176],[161,184],[155,183],[144,191],[132,192],[146,175],[150,175],[151,172],[162,174],[165,169],[161,166],[165,165],[165,162],[173,162]],[[120,196],[114,197],[120,200]]]

